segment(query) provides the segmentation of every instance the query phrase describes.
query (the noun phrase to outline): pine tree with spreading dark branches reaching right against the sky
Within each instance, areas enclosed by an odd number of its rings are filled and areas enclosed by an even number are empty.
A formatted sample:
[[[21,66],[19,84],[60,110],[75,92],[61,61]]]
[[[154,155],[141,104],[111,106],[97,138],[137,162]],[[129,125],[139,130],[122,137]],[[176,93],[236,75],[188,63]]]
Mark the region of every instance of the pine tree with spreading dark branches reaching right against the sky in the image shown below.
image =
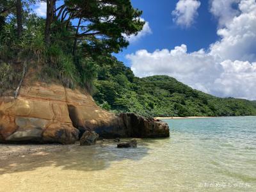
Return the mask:
[[[54,31],[69,28],[74,31],[67,37],[74,39],[73,54],[77,44],[86,51],[118,52],[129,45],[124,34],[136,34],[145,24],[129,0],[66,0],[58,8],[56,0],[46,2],[45,42],[50,44]]]

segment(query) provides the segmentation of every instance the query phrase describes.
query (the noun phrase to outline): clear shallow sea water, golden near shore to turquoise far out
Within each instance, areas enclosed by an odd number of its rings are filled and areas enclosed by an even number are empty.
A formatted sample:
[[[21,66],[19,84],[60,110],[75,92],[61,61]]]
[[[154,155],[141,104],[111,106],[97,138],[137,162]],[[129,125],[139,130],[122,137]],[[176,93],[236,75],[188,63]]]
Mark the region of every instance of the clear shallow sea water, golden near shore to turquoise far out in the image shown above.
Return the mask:
[[[138,148],[105,141],[2,159],[0,191],[256,191],[256,117],[166,122],[170,138]]]

